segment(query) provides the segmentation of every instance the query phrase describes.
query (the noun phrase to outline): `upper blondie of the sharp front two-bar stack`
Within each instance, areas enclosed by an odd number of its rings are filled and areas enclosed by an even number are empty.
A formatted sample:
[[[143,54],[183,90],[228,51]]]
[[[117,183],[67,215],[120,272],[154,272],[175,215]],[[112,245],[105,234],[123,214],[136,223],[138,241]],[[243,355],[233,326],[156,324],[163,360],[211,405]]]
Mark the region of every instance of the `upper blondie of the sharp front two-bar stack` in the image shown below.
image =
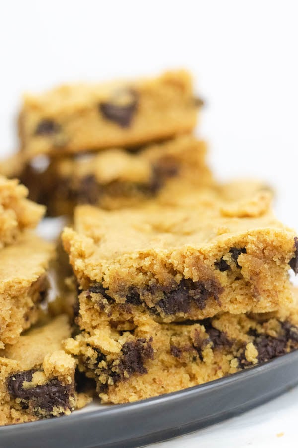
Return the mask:
[[[163,322],[291,302],[295,233],[276,220],[270,202],[258,211],[248,198],[251,213],[243,216],[242,204],[237,216],[237,201],[213,195],[196,208],[78,207],[63,241],[87,297],[116,313],[117,304],[127,305],[125,313],[143,309]]]

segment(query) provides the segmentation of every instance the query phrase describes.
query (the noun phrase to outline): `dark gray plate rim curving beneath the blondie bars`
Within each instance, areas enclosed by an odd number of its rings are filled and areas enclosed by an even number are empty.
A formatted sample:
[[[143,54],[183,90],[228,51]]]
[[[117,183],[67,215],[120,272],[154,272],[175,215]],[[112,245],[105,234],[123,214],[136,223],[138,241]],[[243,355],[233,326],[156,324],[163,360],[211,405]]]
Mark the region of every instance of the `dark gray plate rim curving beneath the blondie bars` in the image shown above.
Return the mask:
[[[157,398],[1,427],[0,447],[139,447],[239,415],[296,384],[298,351]]]

